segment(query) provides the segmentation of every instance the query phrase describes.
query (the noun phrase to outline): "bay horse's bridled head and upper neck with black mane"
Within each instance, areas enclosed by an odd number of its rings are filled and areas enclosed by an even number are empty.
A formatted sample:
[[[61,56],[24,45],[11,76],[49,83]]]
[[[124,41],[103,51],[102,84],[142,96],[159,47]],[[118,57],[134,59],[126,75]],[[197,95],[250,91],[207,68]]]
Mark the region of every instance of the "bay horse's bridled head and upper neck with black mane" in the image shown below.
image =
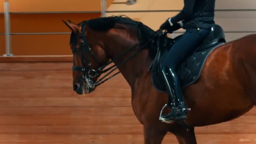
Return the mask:
[[[104,83],[106,77],[99,79],[102,73],[114,72],[124,65],[132,53],[146,46],[141,41],[149,42],[146,35],[154,34],[141,22],[123,16],[101,17],[79,24],[63,22],[72,31],[73,89],[77,94],[90,93]],[[109,67],[109,64],[113,62],[117,67],[111,70],[114,66]]]

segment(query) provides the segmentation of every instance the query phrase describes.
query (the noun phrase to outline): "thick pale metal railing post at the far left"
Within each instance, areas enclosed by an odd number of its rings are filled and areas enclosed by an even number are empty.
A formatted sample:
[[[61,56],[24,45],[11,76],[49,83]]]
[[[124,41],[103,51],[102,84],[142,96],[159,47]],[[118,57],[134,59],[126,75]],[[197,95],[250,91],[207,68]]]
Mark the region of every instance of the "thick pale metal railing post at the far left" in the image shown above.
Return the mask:
[[[11,31],[10,31],[10,10],[9,2],[4,2],[4,14],[5,14],[5,54],[3,56],[13,56],[11,53]]]

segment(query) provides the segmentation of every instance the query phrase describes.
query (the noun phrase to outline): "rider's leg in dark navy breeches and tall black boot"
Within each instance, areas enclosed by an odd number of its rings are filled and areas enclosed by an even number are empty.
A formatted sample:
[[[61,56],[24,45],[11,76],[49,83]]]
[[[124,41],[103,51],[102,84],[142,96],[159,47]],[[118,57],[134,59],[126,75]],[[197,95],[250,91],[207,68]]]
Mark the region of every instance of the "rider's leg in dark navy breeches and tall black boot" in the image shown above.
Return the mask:
[[[163,119],[173,120],[187,117],[187,107],[184,104],[176,68],[195,51],[195,48],[197,48],[209,32],[210,30],[206,29],[187,29],[183,36],[173,44],[164,59],[161,67],[163,76],[168,85],[169,99],[172,98],[175,100],[172,100],[174,102],[174,104],[171,105],[172,111],[167,115],[163,115]]]

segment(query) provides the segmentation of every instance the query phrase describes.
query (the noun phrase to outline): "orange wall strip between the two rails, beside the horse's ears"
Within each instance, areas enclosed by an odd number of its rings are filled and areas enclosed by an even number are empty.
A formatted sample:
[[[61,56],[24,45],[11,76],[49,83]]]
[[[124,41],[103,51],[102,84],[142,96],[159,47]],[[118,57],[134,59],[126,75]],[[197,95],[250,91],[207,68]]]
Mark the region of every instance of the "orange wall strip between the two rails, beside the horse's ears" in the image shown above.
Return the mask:
[[[75,23],[101,16],[101,13],[11,14],[11,32],[70,32],[62,20]]]

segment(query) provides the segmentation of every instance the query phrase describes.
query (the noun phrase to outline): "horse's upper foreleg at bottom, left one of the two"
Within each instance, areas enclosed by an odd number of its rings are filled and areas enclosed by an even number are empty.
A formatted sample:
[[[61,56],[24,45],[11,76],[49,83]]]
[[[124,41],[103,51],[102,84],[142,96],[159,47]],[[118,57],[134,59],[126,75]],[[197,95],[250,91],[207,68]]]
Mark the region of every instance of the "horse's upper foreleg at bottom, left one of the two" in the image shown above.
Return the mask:
[[[161,144],[168,129],[157,125],[144,126],[144,144]]]

